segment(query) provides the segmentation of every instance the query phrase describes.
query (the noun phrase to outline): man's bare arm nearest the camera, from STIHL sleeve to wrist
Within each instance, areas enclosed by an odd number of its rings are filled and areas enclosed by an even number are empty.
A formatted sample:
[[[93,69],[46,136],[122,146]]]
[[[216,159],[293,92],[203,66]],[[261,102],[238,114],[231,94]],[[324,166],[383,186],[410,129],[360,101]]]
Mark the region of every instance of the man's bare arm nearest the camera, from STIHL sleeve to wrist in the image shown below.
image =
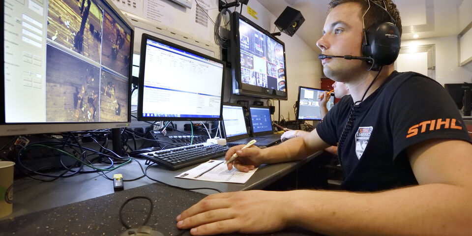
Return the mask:
[[[294,191],[289,225],[328,235],[471,235],[472,145],[429,140],[407,151],[419,185],[377,193]]]

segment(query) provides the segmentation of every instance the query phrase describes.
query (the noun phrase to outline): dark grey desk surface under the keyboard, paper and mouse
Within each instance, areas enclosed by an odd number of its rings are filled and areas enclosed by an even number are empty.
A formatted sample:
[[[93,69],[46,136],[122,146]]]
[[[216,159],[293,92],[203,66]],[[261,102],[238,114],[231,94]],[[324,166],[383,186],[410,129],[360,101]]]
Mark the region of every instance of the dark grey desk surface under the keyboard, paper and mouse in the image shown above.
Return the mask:
[[[195,166],[177,171],[151,166],[147,174],[164,183],[183,188],[208,187],[222,192],[261,189],[314,159],[320,153],[317,152],[298,162],[262,165],[245,184],[174,177]],[[140,162],[144,163],[144,161]],[[146,167],[143,165],[143,168]],[[142,176],[136,162],[118,168],[107,176],[113,177],[116,173],[122,174],[124,179]],[[147,177],[124,182],[124,188],[125,191],[114,193],[113,181],[98,173],[60,178],[53,182],[40,182],[30,178],[15,180],[13,213],[8,217],[0,218],[0,229],[9,229],[5,232],[17,232],[19,235],[34,233],[35,229],[57,235],[70,235],[72,231],[76,234],[89,232],[92,235],[98,235],[97,233],[119,235],[125,228],[119,223],[118,208],[124,199],[142,195],[151,197],[155,202],[154,213],[148,226],[161,231],[164,235],[175,235],[179,232],[175,228],[175,217],[182,210],[205,197],[205,194],[215,193],[214,190],[200,190],[200,193],[181,190],[155,183]],[[143,203],[146,204],[146,202]],[[67,230],[71,230],[70,233],[67,233]],[[300,233],[297,230],[295,232],[297,232],[295,234]]]

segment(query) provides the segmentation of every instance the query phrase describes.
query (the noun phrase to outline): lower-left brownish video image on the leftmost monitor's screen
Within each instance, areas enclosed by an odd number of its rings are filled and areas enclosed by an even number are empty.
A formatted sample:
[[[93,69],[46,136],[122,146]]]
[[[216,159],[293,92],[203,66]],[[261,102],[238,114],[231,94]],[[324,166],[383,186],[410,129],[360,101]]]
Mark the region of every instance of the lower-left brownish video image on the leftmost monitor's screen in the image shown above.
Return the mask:
[[[47,46],[46,120],[99,121],[100,69]]]

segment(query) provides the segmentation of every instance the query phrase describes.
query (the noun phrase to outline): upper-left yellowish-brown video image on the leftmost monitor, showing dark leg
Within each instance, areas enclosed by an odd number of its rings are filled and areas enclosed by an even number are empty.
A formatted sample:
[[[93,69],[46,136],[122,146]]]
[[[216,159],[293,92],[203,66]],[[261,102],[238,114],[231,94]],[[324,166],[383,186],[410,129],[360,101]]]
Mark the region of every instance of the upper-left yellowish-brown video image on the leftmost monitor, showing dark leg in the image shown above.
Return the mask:
[[[100,62],[102,12],[91,0],[50,0],[47,37]]]

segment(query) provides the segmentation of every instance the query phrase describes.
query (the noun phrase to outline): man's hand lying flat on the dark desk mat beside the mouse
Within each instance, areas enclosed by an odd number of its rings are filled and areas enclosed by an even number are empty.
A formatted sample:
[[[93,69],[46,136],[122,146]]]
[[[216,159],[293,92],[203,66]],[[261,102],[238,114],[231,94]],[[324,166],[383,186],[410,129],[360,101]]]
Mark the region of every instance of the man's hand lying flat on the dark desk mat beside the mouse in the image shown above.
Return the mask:
[[[249,148],[252,149],[252,148]],[[242,191],[209,195],[177,216],[192,235],[268,233],[288,226],[291,192]]]

